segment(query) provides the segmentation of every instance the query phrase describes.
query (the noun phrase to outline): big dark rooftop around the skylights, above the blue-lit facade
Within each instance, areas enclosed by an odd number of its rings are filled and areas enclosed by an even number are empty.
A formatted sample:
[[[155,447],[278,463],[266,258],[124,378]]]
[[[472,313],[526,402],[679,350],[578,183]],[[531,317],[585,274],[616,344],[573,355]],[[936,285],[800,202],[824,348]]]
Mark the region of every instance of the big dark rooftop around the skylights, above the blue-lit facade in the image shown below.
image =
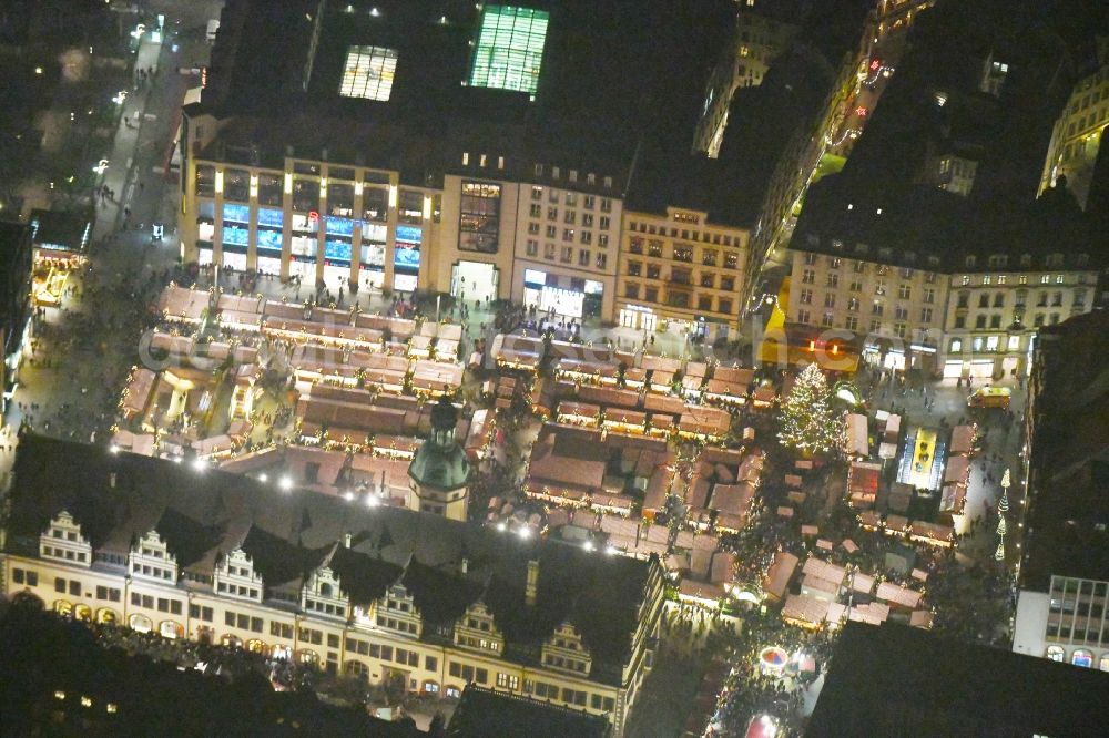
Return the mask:
[[[665,0],[525,3],[550,13],[530,101],[523,92],[464,84],[481,18],[474,2],[355,0],[328,3],[322,18],[315,17],[317,4],[231,0],[213,49],[208,88],[195,110],[269,119],[278,137],[318,130],[315,137],[323,146],[333,142],[333,161],[343,161],[337,150],[349,142],[374,162],[375,146],[360,150],[384,130],[381,146],[389,151],[398,148],[389,139],[427,139],[433,144],[424,145],[441,148],[436,144],[457,145],[477,135],[503,153],[519,144],[538,148],[532,161],[550,161],[548,152],[570,160],[588,153],[627,167],[648,127],[680,121],[688,123],[683,135],[692,135],[701,82],[728,37],[733,12],[726,0],[700,0],[695,8]],[[396,51],[387,102],[338,94],[353,45]],[[660,110],[667,114],[659,115]],[[296,142],[275,143],[273,153],[281,156],[284,143]],[[409,146],[399,148],[404,154]],[[456,161],[454,154],[448,161]]]

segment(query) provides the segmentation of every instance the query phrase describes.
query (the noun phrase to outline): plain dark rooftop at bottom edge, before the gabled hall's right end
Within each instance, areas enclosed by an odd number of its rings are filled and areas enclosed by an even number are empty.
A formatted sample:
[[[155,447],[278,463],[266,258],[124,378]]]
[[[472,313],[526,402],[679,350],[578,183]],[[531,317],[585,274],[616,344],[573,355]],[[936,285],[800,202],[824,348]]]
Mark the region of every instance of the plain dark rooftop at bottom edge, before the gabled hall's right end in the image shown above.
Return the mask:
[[[472,684],[447,726],[448,738],[607,738],[612,725],[599,715],[498,694]]]

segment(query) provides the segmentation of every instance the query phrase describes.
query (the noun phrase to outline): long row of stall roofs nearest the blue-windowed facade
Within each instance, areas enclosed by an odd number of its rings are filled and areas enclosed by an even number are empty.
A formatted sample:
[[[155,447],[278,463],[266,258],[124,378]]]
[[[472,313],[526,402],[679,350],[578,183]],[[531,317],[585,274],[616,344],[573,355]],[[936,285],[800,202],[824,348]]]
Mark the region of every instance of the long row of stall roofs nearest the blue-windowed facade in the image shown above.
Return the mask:
[[[176,285],[163,290],[157,308],[170,321],[201,325],[217,318],[221,326],[232,330],[352,348],[384,346],[389,352],[444,361],[457,360],[462,338],[461,326],[456,324],[420,322],[357,309],[288,304],[262,295],[213,297],[210,291]]]

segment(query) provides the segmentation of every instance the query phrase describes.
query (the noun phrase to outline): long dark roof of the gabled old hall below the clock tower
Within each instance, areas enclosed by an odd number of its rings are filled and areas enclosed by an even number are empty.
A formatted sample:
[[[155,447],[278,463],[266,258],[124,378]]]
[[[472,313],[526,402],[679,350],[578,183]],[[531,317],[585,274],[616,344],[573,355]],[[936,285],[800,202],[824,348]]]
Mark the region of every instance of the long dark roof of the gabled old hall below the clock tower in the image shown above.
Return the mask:
[[[380,597],[401,576],[430,622],[449,622],[481,597],[509,657],[538,656],[554,627],[571,621],[591,649],[593,678],[606,681],[619,681],[657,565],[37,435],[20,441],[13,476],[9,550],[37,555],[40,533],[67,510],[94,552],[125,551],[150,530],[183,560],[197,558],[216,539],[204,561],[242,547],[267,592],[299,583],[329,556],[356,604]],[[539,563],[536,607],[525,604],[529,560]]]

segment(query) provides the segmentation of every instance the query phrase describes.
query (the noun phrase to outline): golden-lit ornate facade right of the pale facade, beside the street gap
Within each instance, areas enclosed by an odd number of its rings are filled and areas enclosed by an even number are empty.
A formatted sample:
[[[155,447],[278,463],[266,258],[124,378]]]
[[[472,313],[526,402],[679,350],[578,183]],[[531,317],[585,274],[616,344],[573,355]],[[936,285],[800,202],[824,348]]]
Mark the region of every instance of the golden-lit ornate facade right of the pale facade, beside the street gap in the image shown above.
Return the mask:
[[[625,211],[617,308],[621,326],[667,327],[716,340],[739,329],[745,228],[711,223],[703,211]]]

